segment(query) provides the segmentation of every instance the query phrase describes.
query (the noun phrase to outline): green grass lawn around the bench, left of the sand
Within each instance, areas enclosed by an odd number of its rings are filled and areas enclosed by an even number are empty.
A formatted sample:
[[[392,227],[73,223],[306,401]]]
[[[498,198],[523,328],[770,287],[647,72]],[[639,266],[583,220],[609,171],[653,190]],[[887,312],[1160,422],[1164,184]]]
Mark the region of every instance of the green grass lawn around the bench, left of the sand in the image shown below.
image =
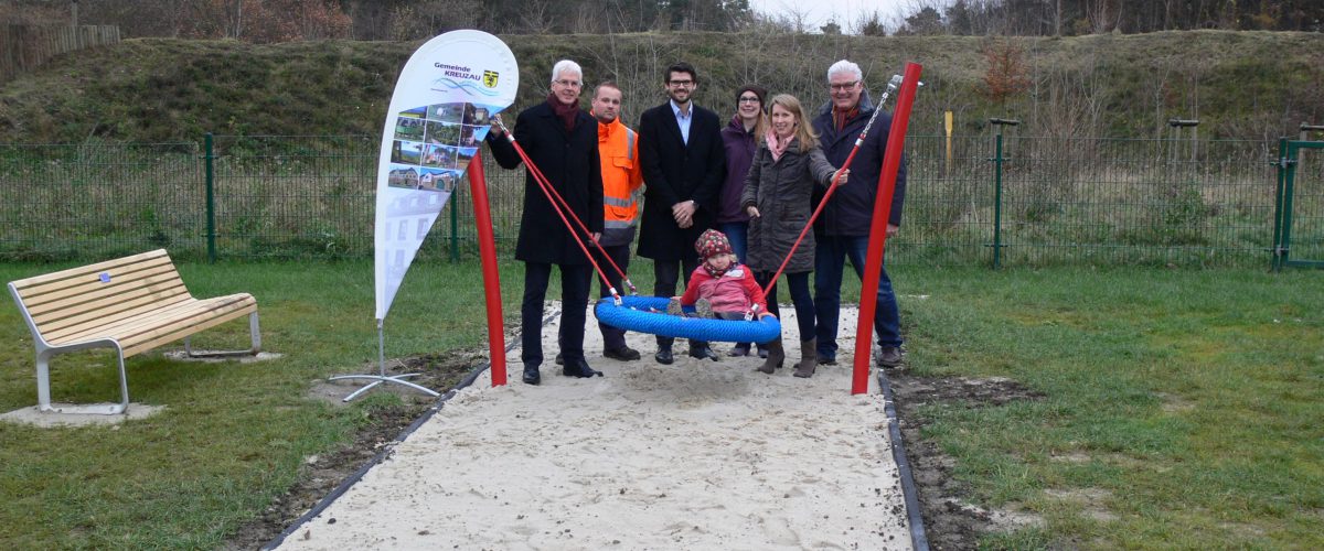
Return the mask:
[[[0,279],[54,270],[9,264]],[[316,379],[376,371],[371,263],[184,264],[180,274],[195,296],[253,293],[263,350],[285,355],[181,363],[158,350],[127,362],[130,399],[167,406],[156,416],[115,429],[0,423],[0,548],[217,547],[291,485],[307,456],[347,443],[369,408],[399,402],[383,394],[340,408],[306,398]],[[482,346],[481,281],[477,262],[414,266],[387,318],[387,355]],[[507,314],[518,316],[518,297],[504,293]],[[246,326],[203,332],[195,346],[246,346]],[[16,307],[0,307],[0,411],[33,406],[32,337]],[[57,355],[52,386],[56,402],[118,402],[114,353]]]

